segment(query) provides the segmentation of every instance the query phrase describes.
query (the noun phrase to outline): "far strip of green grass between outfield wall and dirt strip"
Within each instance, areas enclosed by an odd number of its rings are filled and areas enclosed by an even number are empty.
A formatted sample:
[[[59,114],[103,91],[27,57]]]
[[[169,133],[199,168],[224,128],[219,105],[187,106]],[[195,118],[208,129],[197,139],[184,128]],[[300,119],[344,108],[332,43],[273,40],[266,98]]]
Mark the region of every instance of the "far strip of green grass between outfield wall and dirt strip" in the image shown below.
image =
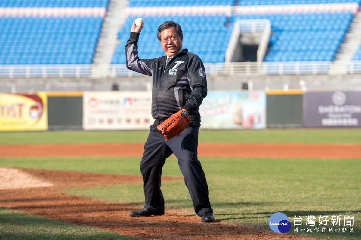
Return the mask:
[[[0,132],[0,144],[144,142],[148,131]],[[361,128],[200,130],[200,142],[361,143]]]

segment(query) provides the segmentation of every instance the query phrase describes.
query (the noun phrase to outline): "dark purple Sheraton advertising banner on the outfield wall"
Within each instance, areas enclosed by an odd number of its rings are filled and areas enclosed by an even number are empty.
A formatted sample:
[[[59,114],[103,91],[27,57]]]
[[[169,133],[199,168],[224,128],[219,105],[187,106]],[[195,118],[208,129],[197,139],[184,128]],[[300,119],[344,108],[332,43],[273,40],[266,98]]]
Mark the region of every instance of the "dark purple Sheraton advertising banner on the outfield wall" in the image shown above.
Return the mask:
[[[305,127],[360,127],[361,92],[306,92]]]

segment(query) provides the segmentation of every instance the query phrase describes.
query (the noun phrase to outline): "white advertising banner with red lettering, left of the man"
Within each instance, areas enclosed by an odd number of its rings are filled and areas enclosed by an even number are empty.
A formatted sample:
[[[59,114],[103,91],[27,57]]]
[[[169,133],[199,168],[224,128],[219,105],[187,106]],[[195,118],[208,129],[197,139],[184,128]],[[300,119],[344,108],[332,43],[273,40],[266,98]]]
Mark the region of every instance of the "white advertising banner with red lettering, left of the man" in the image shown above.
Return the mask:
[[[146,91],[84,92],[84,130],[147,130],[152,93]]]

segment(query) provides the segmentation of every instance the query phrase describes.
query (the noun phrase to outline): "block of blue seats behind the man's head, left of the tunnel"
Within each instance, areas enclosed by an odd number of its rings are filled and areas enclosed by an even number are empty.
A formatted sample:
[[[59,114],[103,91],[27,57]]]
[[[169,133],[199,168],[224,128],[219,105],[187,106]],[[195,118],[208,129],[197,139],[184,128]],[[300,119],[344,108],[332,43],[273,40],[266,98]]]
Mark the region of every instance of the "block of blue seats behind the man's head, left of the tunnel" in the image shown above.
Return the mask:
[[[118,32],[119,44],[113,55],[112,63],[125,63],[124,46],[129,38],[129,26],[136,16],[129,16],[123,28]],[[156,58],[164,55],[160,43],[157,39],[155,30],[158,26],[168,20],[165,16],[147,16],[144,21],[147,22],[142,30],[142,37],[139,39],[139,56],[140,58]],[[198,16],[172,16],[174,21],[177,20],[183,30],[183,46],[189,51],[197,54],[207,63],[216,63],[220,59],[224,61],[225,47],[221,43],[227,44],[231,31],[226,27],[227,16],[219,15],[198,15]],[[194,22],[208,22],[205,25],[198,26]],[[198,34],[194,34],[194,33]],[[207,44],[204,44],[204,40]],[[210,48],[209,46],[214,46]],[[213,48],[217,46],[217,51],[213,52]]]

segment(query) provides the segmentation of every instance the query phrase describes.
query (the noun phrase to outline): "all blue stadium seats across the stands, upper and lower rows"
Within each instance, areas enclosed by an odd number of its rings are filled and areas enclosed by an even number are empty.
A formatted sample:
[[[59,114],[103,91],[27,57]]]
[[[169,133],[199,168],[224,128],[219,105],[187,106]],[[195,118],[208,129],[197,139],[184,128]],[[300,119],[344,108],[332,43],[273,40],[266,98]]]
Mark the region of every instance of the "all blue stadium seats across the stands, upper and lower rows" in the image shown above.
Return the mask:
[[[353,3],[361,0],[169,0],[169,6],[205,5],[279,5]],[[2,0],[0,7],[107,7],[109,0]],[[130,0],[132,6],[164,6],[161,0]],[[129,26],[138,16],[129,16],[118,32],[119,45],[112,63],[125,63],[124,45]],[[237,19],[270,19],[273,35],[265,61],[333,60],[349,24],[352,12],[319,13],[252,13],[152,15],[144,17],[147,24],[142,31],[139,47],[142,58],[164,54],[155,29],[162,22],[173,19],[183,27],[184,47],[198,54],[204,62],[224,61],[227,42]],[[197,26],[195,22],[202,22]],[[0,17],[0,64],[85,64],[91,63],[103,23],[93,17]],[[227,25],[226,23],[230,23]],[[195,34],[196,33],[196,34]],[[207,39],[207,46],[204,45]],[[361,58],[359,49],[355,60]]]

